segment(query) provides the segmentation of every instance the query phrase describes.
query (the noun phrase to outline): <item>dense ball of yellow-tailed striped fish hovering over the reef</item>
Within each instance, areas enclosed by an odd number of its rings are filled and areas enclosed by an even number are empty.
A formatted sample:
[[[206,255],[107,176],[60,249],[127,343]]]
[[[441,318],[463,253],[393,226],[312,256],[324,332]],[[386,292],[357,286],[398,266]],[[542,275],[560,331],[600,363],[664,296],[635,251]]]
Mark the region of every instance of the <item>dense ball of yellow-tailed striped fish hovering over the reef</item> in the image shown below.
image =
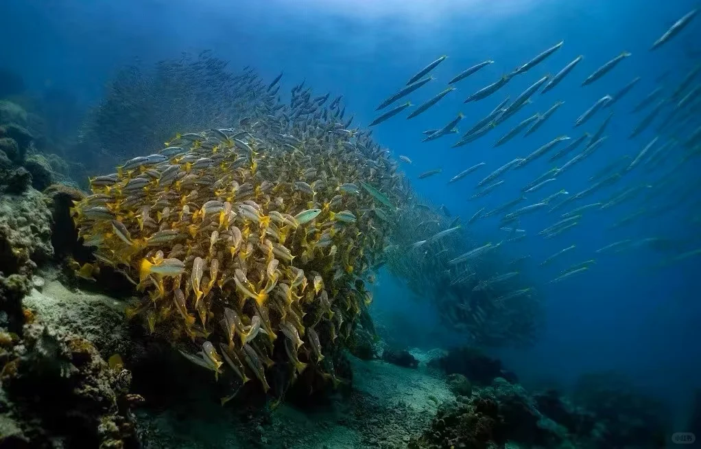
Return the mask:
[[[301,83],[283,103],[281,77],[245,69],[250,116],[91,178],[72,210],[96,258],[78,276],[118,272],[142,295],[130,316],[216,377],[266,392],[273,363],[290,381],[315,370],[339,382],[329,355],[369,321],[369,283],[406,188],[341,97]]]

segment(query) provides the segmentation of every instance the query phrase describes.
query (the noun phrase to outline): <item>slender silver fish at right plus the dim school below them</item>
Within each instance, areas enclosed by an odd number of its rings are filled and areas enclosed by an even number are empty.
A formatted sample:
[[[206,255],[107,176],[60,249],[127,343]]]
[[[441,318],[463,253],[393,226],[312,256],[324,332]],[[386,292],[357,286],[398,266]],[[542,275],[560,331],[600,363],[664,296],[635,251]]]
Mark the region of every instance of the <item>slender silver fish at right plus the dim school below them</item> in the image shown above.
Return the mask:
[[[661,49],[662,46],[673,48],[674,44],[670,42],[673,42],[673,38],[684,29],[694,26],[696,15],[697,11],[693,10],[674,22],[674,25],[653,43],[649,57],[658,57],[664,51]],[[689,30],[686,32],[691,33]],[[566,46],[564,41],[560,41],[512,72],[503,74],[494,83],[471,93],[464,102],[479,102],[495,95],[505,89],[505,86],[508,86],[517,76],[524,77],[538,69],[545,72],[540,64],[555,53],[564,51]],[[415,86],[418,82],[421,86],[430,86],[429,81],[434,78],[428,74],[441,65],[446,58],[447,56],[442,55],[421,69],[409,81],[409,88],[402,88],[400,92],[383,102],[378,109],[389,107],[394,101],[416,91],[411,86]],[[409,221],[418,223],[418,227],[414,228],[413,236],[406,236],[403,246],[400,244],[396,247],[397,253],[388,263],[397,276],[402,276],[403,272],[410,272],[411,276],[407,276],[407,279],[414,293],[432,297],[434,302],[440,304],[441,313],[446,315],[445,321],[454,328],[468,328],[468,333],[477,342],[484,344],[489,341],[506,340],[510,337],[508,334],[512,332],[508,326],[505,327],[503,321],[496,322],[499,314],[492,304],[498,304],[500,307],[504,303],[512,304],[511,310],[503,311],[503,314],[508,314],[521,310],[514,304],[515,301],[530,301],[536,294],[535,288],[519,284],[519,279],[521,282],[527,281],[524,274],[519,272],[519,266],[523,266],[524,262],[530,260],[530,255],[517,256],[508,264],[498,264],[495,261],[496,257],[493,257],[497,250],[517,249],[514,243],[532,234],[537,234],[538,238],[544,239],[561,236],[566,238],[568,231],[576,228],[585,220],[585,217],[594,214],[596,210],[608,210],[622,203],[635,201],[639,202],[639,209],[625,215],[608,228],[604,228],[602,234],[605,234],[606,229],[622,229],[637,220],[650,222],[679,210],[686,211],[686,222],[696,226],[701,222],[701,215],[697,212],[701,208],[697,193],[701,187],[699,178],[695,177],[691,182],[683,182],[677,175],[681,170],[688,170],[691,167],[690,163],[701,155],[701,61],[698,58],[689,58],[681,61],[679,67],[669,67],[662,76],[654,80],[655,88],[652,91],[641,93],[637,101],[624,105],[625,100],[632,100],[633,92],[641,90],[639,83],[645,78],[642,74],[631,76],[631,80],[620,86],[617,91],[598,94],[594,91],[600,79],[611,72],[620,74],[629,64],[626,61],[634,56],[628,51],[621,51],[618,55],[612,55],[610,60],[601,61],[599,68],[594,69],[593,72],[578,74],[584,58],[583,55],[566,57],[565,59],[570,62],[564,67],[545,76],[543,74],[533,76],[533,81],[529,81],[529,87],[520,92],[515,99],[511,100],[510,95],[506,95],[505,99],[501,100],[489,114],[468,126],[467,133],[458,135],[450,144],[452,148],[463,147],[477,140],[484,142],[486,135],[496,134],[501,130],[494,139],[494,144],[489,145],[491,148],[488,151],[509,152],[511,148],[517,148],[518,153],[511,157],[504,156],[504,160],[508,162],[502,166],[493,167],[491,173],[487,174],[488,163],[480,161],[477,150],[468,150],[470,162],[464,169],[455,169],[456,174],[447,173],[447,185],[451,189],[459,189],[459,186],[465,183],[464,180],[481,178],[476,182],[475,191],[465,195],[468,201],[475,201],[489,196],[497,189],[503,189],[502,186],[508,183],[513,185],[508,175],[510,173],[516,175],[518,171],[523,173],[524,170],[536,166],[533,162],[537,159],[543,161],[547,158],[551,166],[552,163],[555,165],[543,173],[540,173],[537,168],[531,170],[533,180],[519,185],[521,194],[512,200],[505,201],[501,206],[496,208],[493,205],[482,208],[475,206],[474,215],[471,215],[468,220],[463,220],[462,225],[458,225],[461,217],[451,218],[446,213],[445,206],[440,208],[441,213],[425,206],[423,203],[426,201],[414,203],[413,207],[416,209],[414,214],[417,217]],[[411,102],[406,102],[378,116],[371,126],[390,119],[404,109],[410,112],[407,119],[423,114],[429,108],[435,107],[447,95],[456,95],[454,93],[456,83],[463,82],[469,76],[492,64],[494,61],[490,59],[477,62],[454,76],[444,91],[420,104],[413,112],[407,109]],[[428,77],[423,78],[425,76]],[[578,81],[573,80],[576,78]],[[419,79],[421,81],[417,81]],[[525,145],[522,142],[516,143],[518,136],[526,138],[530,135],[543,135],[542,130],[539,134],[536,134],[536,131],[554,114],[562,114],[558,113],[558,110],[565,102],[564,100],[547,102],[540,112],[526,112],[526,109],[533,109],[533,105],[541,107],[543,105],[541,98],[544,98],[545,94],[557,95],[558,86],[564,89],[562,86],[573,82],[576,83],[574,86],[581,86],[577,88],[591,91],[587,95],[590,95],[593,100],[588,109],[581,111],[571,120],[572,127],[561,135],[545,138],[538,146],[531,147],[530,142],[533,138],[522,140],[526,142]],[[543,96],[536,100],[536,94]],[[523,114],[519,117],[518,113],[522,110]],[[625,138],[629,142],[625,149],[629,152],[620,154],[619,149],[610,145],[611,139],[607,133],[611,130],[611,122],[615,122],[617,116],[629,119],[628,114],[635,115],[634,121],[637,124],[625,130]],[[465,120],[464,115],[461,112],[456,119],[445,126],[424,131],[421,140],[423,142],[439,138],[448,140],[451,135],[458,133],[456,125],[459,121]],[[509,119],[512,119],[514,124],[502,125]],[[597,119],[599,123],[592,125]],[[591,128],[581,130],[587,126]],[[566,135],[567,133],[573,134]],[[497,148],[502,146],[505,149]],[[507,146],[510,148],[506,148]],[[531,148],[526,149],[528,147]],[[580,164],[584,165],[582,162],[592,157],[592,154],[603,156],[603,153],[606,153],[608,162],[591,174],[589,186],[580,191],[571,191],[571,187],[568,187],[568,175],[576,172],[577,167]],[[413,163],[406,155],[401,155],[399,158],[407,165]],[[440,160],[440,157],[435,159]],[[427,168],[428,170],[418,175],[419,180],[437,177],[444,171],[440,166]],[[625,180],[631,180],[631,182],[626,184]],[[618,190],[611,191],[616,185],[619,186]],[[596,194],[607,190],[611,191],[608,197],[596,197]],[[672,201],[655,201],[663,196],[670,196]],[[649,206],[653,203],[660,206]],[[408,212],[402,211],[402,213],[406,215]],[[526,232],[526,229],[521,229],[522,220],[531,215],[547,217],[551,225],[544,229],[536,229],[533,233]],[[498,243],[472,242],[466,247],[466,242],[470,239],[465,235],[465,231],[468,231],[477,220],[485,220],[491,216],[498,217],[496,221],[501,232],[504,232],[503,239],[498,239],[501,240]],[[595,220],[604,221],[601,218]],[[458,229],[461,226],[462,229]],[[449,235],[442,234],[446,232]],[[551,283],[565,281],[592,269],[596,263],[595,256],[634,248],[647,247],[665,251],[668,257],[661,263],[664,265],[701,254],[699,236],[701,234],[696,233],[695,236],[687,239],[675,239],[669,236],[623,239],[614,241],[604,248],[591,248],[591,253],[586,255],[581,254],[587,250],[584,246],[564,243],[561,250],[549,255],[542,262],[536,262],[536,265],[555,267],[556,271],[550,278]],[[691,249],[689,245],[692,245]],[[390,250],[393,248],[395,247],[391,247]],[[582,260],[558,267],[557,262],[567,260],[571,256],[580,257]],[[484,264],[491,264],[497,270],[497,274],[491,279],[484,279],[484,275],[479,275],[480,266]],[[462,288],[456,289],[454,286],[462,286]],[[470,290],[478,290],[480,293],[475,295]],[[491,291],[489,295],[491,302],[484,301],[481,296],[484,291]],[[529,304],[529,309],[531,307],[534,307],[533,304]],[[499,317],[499,319],[502,318]],[[490,320],[493,322],[489,323]],[[515,338],[519,339],[520,335],[521,340],[528,340],[531,331],[535,328],[531,325],[538,320],[524,314],[524,321],[529,323],[529,330],[521,334],[516,333]],[[489,326],[480,326],[485,322],[489,323]],[[502,327],[496,328],[500,324]]]

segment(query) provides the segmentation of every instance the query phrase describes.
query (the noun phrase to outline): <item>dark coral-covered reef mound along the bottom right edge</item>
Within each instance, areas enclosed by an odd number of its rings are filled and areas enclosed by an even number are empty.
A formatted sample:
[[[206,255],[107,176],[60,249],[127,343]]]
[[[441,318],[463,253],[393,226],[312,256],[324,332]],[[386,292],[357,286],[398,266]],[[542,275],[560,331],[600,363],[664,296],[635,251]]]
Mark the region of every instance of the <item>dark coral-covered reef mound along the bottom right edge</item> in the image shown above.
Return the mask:
[[[453,391],[466,379],[450,375]],[[573,399],[554,389],[529,394],[497,377],[472,396],[456,391],[410,448],[494,448],[509,443],[537,448],[665,447],[665,408],[618,375],[587,375]]]

